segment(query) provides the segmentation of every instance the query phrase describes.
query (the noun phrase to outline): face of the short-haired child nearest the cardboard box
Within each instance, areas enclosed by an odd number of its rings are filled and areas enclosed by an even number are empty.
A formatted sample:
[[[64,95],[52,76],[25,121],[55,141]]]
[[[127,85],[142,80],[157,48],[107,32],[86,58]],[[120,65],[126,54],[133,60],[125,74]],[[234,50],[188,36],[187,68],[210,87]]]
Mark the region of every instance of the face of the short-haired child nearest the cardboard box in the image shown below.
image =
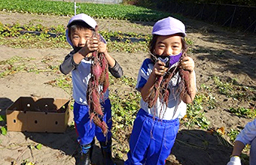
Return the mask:
[[[84,29],[76,29],[75,31],[71,31],[71,40],[74,46],[82,47],[85,46],[87,40],[93,36],[93,31],[89,28]]]

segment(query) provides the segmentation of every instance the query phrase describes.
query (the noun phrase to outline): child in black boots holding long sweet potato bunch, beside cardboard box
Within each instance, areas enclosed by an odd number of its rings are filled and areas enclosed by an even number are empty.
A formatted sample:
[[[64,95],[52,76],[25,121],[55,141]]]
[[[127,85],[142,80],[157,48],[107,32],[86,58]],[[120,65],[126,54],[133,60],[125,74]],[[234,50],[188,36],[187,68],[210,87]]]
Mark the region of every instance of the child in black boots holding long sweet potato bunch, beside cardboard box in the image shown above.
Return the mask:
[[[102,36],[98,39],[93,37],[93,31],[96,30],[97,24],[87,14],[81,13],[72,17],[68,23],[66,37],[73,47],[72,52],[66,55],[64,62],[59,66],[62,74],[72,73],[73,98],[74,103],[74,120],[75,128],[78,133],[78,142],[81,145],[81,157],[78,164],[91,163],[91,157],[94,145],[94,136],[99,140],[102,148],[104,164],[113,165],[114,161],[111,157],[111,132],[106,136],[102,133],[101,128],[96,126],[89,117],[89,107],[87,104],[87,85],[90,80],[90,68],[92,60],[88,57],[92,52],[104,53],[108,61],[108,71],[114,77],[121,77],[123,70],[117,61],[108,54],[106,42]],[[111,103],[108,99],[108,90],[102,99],[102,109],[104,116],[102,117],[111,130]]]

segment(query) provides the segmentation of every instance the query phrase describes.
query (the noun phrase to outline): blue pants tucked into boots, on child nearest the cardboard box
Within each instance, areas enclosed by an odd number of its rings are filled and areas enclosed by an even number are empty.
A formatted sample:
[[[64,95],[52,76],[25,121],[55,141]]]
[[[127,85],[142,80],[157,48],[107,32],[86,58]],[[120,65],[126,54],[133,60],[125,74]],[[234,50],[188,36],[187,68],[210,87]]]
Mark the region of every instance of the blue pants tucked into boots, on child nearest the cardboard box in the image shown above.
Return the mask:
[[[105,100],[102,104],[102,110],[104,113],[103,120],[108,125],[108,130],[111,130],[111,104],[109,99]],[[75,129],[78,133],[78,142],[81,145],[87,145],[93,141],[94,136],[99,142],[105,142],[111,139],[111,132],[109,131],[107,136],[104,136],[102,129],[96,126],[93,121],[90,121],[89,107],[87,105],[81,105],[75,102],[74,104],[74,121]]]

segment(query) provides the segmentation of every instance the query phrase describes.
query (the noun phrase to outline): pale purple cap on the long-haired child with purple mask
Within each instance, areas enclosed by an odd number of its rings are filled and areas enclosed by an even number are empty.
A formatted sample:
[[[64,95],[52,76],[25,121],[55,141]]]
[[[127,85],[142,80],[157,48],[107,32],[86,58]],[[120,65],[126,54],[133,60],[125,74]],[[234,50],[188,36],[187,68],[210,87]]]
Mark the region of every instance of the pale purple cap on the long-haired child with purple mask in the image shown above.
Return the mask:
[[[157,35],[172,35],[177,33],[181,33],[182,37],[186,36],[184,24],[173,17],[167,17],[157,21],[152,31],[152,34]]]

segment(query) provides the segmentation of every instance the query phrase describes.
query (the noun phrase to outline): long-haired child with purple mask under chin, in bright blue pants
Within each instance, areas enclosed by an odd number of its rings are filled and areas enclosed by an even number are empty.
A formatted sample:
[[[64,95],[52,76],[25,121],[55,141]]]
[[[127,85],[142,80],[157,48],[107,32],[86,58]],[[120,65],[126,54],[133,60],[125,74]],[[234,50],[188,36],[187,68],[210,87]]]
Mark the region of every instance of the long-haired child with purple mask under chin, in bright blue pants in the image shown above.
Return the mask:
[[[142,95],[141,109],[133,124],[126,165],[165,164],[178,133],[178,118],[185,115],[186,104],[190,104],[196,95],[194,61],[188,56],[181,58],[187,47],[184,24],[167,17],[154,24],[152,34],[148,46],[151,58],[142,63],[136,84]],[[164,77],[178,65],[189,72],[190,95],[179,89],[181,77],[175,73],[166,85],[169,92],[167,101],[157,98],[156,104],[149,106],[148,97],[157,78]]]

